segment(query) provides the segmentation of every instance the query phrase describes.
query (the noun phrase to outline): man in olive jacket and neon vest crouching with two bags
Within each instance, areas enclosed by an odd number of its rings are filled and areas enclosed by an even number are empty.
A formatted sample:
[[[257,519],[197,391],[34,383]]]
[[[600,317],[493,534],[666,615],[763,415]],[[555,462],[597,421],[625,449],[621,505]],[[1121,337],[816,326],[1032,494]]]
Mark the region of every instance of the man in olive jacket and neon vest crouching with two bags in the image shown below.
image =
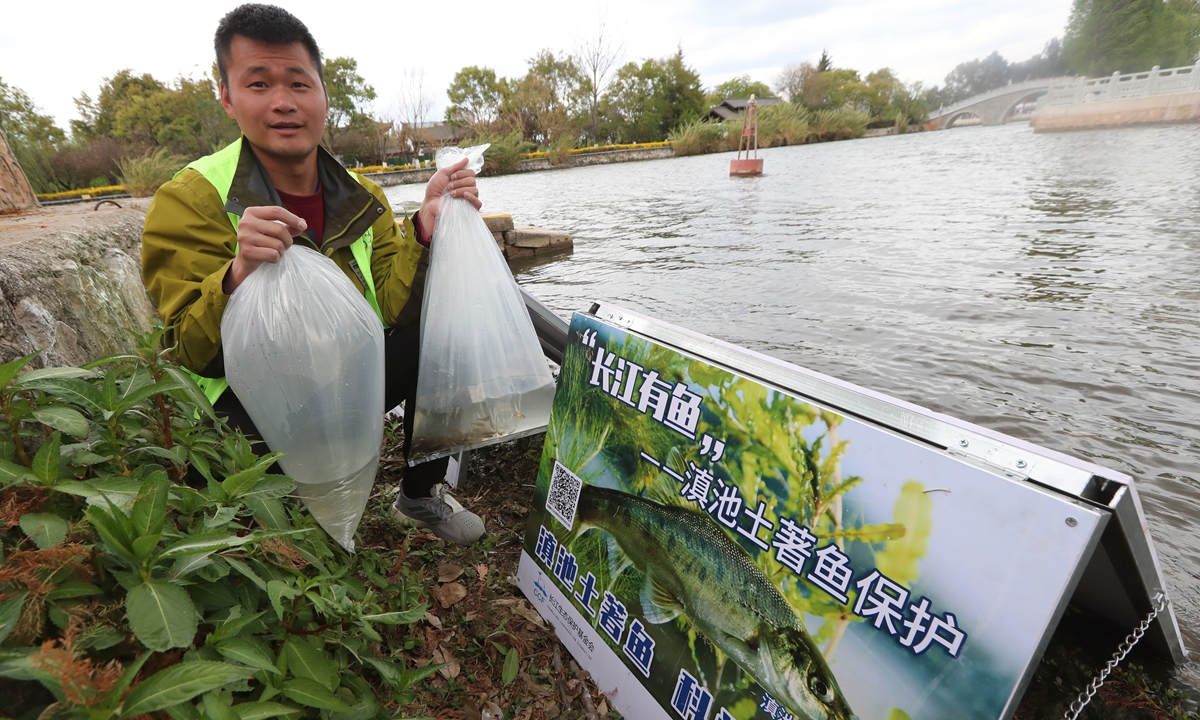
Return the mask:
[[[331,258],[364,293],[385,330],[384,407],[406,401],[413,433],[426,247],[445,190],[480,206],[466,161],[438,170],[420,211],[397,226],[383,191],[320,148],[329,112],[320,50],[287,11],[242,5],[217,26],[221,104],[242,137],[163,185],[146,212],[142,275],[172,328],[175,359],[198,376],[233,427],[260,439],[224,382],[221,316],[263,263],[301,242]],[[394,515],[467,545],[484,523],[446,492],[446,458],[407,468]]]

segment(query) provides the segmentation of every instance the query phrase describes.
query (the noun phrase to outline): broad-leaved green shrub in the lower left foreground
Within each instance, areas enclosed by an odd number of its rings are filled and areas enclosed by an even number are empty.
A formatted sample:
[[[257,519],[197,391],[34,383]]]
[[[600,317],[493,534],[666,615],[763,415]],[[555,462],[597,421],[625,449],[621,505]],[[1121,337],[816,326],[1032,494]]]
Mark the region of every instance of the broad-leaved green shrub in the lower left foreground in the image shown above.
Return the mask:
[[[72,720],[391,716],[376,688],[408,702],[442,667],[397,660],[418,583],[332,542],[162,335],[0,365],[0,683]]]

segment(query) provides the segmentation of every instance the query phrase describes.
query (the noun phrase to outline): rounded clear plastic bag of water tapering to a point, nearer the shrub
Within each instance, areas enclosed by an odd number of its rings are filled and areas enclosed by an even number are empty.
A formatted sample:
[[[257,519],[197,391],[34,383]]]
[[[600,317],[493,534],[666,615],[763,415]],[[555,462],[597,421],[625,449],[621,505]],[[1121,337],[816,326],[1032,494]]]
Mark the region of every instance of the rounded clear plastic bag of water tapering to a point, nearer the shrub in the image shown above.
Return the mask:
[[[221,318],[229,386],[320,527],[354,552],[383,443],[383,324],[334,260],[293,245]]]

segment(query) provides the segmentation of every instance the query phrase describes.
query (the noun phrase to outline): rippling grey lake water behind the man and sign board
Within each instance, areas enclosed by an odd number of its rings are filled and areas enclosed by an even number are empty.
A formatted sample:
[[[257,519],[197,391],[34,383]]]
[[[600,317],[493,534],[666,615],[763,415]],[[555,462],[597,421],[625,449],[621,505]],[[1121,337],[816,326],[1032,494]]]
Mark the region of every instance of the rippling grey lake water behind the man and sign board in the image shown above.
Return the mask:
[[[575,235],[517,271],[564,317],[607,300],[1129,473],[1200,652],[1200,126],[761,155],[488,178],[484,209]]]

